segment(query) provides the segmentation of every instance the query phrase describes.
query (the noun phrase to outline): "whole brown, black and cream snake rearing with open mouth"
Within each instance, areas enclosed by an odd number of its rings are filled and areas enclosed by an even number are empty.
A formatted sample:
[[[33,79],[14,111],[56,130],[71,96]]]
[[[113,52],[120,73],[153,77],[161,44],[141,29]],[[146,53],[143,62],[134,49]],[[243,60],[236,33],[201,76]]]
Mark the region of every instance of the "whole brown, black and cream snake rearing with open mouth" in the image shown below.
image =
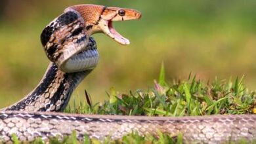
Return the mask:
[[[211,115],[186,117],[148,117],[121,115],[82,115],[62,113],[72,92],[93,71],[99,59],[94,33],[104,33],[121,45],[129,40],[114,29],[114,21],[137,20],[138,10],[101,5],[74,5],[64,10],[41,33],[41,43],[51,61],[39,84],[23,99],[0,111],[0,142],[12,143],[15,134],[21,142],[41,137],[64,139],[84,135],[104,141],[161,133],[182,134],[184,143],[223,143],[253,141],[256,115]]]

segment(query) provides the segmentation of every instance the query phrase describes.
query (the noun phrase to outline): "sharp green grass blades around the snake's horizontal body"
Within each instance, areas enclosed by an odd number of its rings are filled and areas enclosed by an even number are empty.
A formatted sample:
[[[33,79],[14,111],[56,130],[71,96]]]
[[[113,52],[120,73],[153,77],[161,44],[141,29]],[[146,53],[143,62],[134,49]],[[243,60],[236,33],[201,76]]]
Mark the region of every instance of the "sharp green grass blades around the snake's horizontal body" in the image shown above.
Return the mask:
[[[108,100],[104,103],[93,103],[85,91],[85,101],[73,106],[69,105],[66,113],[96,114],[96,115],[147,115],[182,117],[188,115],[226,115],[226,114],[255,114],[256,94],[250,92],[243,83],[244,77],[236,81],[202,82],[196,76],[189,75],[186,81],[165,81],[165,69],[162,65],[158,82],[148,90],[137,90],[129,94],[119,94],[114,88],[108,92]],[[14,143],[18,143],[15,135]],[[240,141],[246,143],[244,139]],[[34,143],[43,143],[37,139]],[[63,141],[52,139],[51,143],[79,143],[75,133]],[[85,135],[83,143],[100,143]],[[106,139],[104,143],[182,143],[182,135],[169,137],[159,134],[159,137],[129,134],[118,141]],[[227,142],[230,143],[230,142]]]

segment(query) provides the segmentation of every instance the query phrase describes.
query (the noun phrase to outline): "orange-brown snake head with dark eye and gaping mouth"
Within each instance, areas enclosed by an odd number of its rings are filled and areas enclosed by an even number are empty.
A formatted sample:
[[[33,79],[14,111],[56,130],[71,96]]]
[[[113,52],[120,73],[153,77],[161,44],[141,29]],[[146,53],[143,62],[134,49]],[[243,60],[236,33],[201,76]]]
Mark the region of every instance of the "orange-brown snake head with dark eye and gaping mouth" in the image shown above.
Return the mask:
[[[75,5],[65,11],[75,10],[85,21],[87,33],[105,33],[122,45],[129,45],[129,39],[120,35],[113,26],[113,21],[137,20],[141,13],[134,9],[104,7],[101,5]]]

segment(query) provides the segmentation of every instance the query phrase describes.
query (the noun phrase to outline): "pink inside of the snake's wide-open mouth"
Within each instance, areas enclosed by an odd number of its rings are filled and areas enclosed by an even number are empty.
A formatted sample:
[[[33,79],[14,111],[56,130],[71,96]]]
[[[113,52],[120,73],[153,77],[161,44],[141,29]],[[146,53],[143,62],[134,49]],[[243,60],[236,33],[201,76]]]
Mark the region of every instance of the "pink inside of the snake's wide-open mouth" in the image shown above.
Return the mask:
[[[128,39],[125,39],[125,37],[121,36],[116,29],[113,27],[112,21],[108,22],[108,29],[110,30],[110,33],[114,36],[112,37],[114,40],[116,40],[118,43],[121,43],[122,45],[129,45],[130,42]]]

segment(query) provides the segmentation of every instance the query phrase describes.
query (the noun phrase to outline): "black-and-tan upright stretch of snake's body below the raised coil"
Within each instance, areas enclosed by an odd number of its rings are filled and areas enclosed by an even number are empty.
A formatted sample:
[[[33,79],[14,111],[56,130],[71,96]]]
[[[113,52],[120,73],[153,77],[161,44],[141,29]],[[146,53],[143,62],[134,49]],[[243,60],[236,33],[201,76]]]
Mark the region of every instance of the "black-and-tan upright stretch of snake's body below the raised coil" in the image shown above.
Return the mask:
[[[64,73],[50,63],[43,79],[25,98],[4,108],[5,111],[63,111],[72,92],[92,70]]]

